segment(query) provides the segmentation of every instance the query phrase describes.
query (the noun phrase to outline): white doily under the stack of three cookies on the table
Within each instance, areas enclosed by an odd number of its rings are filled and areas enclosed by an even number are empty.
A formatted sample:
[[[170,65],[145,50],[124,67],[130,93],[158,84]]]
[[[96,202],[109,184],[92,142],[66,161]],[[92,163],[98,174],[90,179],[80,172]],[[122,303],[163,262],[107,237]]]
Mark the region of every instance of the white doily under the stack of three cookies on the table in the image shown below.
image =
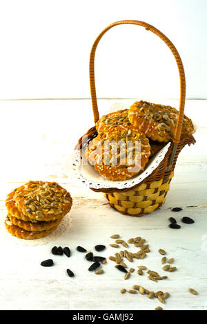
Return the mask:
[[[46,244],[50,241],[55,241],[55,239],[59,238],[63,233],[65,233],[71,225],[72,217],[71,214],[68,213],[66,216],[63,217],[61,223],[57,226],[57,229],[48,234],[48,236],[41,237],[40,239],[34,240],[25,240],[25,239],[18,239],[16,236],[12,236],[7,230],[4,225],[5,219],[1,218],[0,221],[0,233],[1,237],[5,236],[6,240],[13,241],[14,244],[21,244],[21,245],[42,245]]]

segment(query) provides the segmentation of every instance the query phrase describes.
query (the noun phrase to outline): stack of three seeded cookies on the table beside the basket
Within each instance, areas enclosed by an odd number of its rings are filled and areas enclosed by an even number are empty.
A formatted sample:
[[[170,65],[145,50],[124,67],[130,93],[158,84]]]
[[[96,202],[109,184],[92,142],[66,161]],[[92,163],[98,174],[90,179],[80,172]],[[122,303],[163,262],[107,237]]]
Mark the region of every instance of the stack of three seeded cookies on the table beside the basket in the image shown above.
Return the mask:
[[[19,239],[39,239],[56,230],[72,199],[56,182],[29,181],[6,198],[6,229]]]

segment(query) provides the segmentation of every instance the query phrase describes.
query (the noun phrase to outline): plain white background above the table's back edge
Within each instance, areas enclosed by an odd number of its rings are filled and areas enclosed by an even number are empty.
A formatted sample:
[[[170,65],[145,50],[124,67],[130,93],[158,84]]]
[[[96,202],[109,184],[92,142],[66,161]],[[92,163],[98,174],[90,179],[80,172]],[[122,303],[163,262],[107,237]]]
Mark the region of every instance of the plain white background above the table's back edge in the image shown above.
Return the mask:
[[[92,43],[122,19],[164,32],[184,63],[187,98],[206,99],[206,17],[206,0],[1,0],[0,99],[90,98]],[[174,57],[144,28],[112,28],[95,62],[98,97],[179,97]]]

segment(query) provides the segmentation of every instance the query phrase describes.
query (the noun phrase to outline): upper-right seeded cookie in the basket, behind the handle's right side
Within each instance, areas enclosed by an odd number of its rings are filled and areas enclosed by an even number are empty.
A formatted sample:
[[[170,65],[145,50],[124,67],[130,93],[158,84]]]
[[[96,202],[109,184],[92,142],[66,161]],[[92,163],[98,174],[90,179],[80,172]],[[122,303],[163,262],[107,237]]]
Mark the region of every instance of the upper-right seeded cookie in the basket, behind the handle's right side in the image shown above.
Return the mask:
[[[133,103],[128,112],[132,125],[139,128],[153,141],[172,141],[177,125],[178,111],[170,105],[157,105],[146,101]],[[194,127],[191,119],[184,115],[181,136],[193,134]]]

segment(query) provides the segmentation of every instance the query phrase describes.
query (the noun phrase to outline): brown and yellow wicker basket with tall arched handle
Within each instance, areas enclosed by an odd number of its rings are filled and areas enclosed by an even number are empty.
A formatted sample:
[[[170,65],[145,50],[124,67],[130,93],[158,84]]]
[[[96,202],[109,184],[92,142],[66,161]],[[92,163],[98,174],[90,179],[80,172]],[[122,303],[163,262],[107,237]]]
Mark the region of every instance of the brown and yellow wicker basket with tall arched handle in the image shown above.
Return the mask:
[[[166,43],[166,45],[168,45],[172,54],[175,57],[180,79],[179,115],[177,119],[177,127],[175,130],[175,138],[173,139],[163,161],[159,163],[157,168],[146,179],[144,179],[144,181],[141,181],[141,183],[133,186],[130,189],[90,188],[95,192],[103,192],[104,196],[106,196],[106,199],[108,199],[111,207],[115,207],[115,209],[121,212],[122,214],[128,214],[130,216],[142,216],[144,214],[153,212],[165,203],[166,194],[170,188],[170,181],[174,174],[177,156],[186,144],[190,145],[191,143],[195,143],[195,139],[192,135],[187,136],[185,138],[181,138],[181,128],[184,119],[184,105],[186,99],[186,79],[184,67],[179,57],[179,53],[177,52],[175,46],[164,34],[157,30],[157,28],[149,25],[148,23],[144,23],[143,21],[127,20],[112,23],[110,26],[105,28],[101,32],[101,34],[99,34],[99,36],[95,40],[95,43],[92,45],[92,50],[90,52],[89,68],[90,92],[95,123],[99,120],[94,72],[95,51],[101,37],[103,37],[103,34],[110,30],[110,28],[122,24],[143,26],[144,28],[146,28],[146,30],[150,30],[151,32],[159,36]],[[92,139],[95,138],[95,136],[97,136],[97,131],[94,126],[90,128],[90,130],[88,130],[88,132],[84,136],[82,136],[81,139],[79,139],[77,147],[84,148],[84,146],[88,145],[88,143],[92,141]],[[86,138],[87,141],[85,141]]]

